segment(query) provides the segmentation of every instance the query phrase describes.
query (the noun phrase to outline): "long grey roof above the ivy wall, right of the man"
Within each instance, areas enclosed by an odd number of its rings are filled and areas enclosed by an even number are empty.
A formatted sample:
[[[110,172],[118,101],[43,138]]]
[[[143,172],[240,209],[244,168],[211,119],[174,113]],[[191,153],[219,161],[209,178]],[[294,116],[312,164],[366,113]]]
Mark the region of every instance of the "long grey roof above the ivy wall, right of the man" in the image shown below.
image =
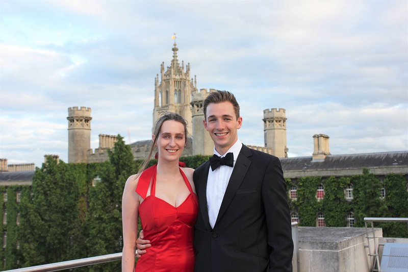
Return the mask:
[[[313,161],[312,156],[280,160],[288,178],[359,175],[363,168],[369,168],[376,175],[408,174],[408,151],[327,155],[321,161]]]

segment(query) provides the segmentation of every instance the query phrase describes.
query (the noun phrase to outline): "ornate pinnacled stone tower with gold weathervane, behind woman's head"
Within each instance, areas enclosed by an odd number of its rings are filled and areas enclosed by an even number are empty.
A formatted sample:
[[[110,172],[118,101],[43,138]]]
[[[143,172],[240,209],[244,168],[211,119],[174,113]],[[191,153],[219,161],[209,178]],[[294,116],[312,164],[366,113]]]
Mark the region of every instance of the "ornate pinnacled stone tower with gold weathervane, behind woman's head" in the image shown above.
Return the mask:
[[[191,95],[197,90],[197,81],[190,81],[190,64],[184,71],[184,62],[180,66],[177,60],[177,44],[174,41],[173,59],[167,71],[164,71],[164,62],[161,65],[161,78],[155,78],[155,108],[153,110],[153,127],[157,119],[166,112],[175,112],[187,120],[187,129],[192,135]]]

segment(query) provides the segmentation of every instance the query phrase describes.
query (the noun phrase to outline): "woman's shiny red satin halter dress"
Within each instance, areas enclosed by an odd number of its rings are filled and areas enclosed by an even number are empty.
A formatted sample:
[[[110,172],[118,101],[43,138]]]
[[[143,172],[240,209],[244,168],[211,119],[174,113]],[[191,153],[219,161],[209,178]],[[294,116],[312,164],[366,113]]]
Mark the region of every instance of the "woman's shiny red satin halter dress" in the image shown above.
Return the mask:
[[[136,271],[194,271],[194,224],[198,199],[182,169],[180,173],[190,194],[178,207],[155,196],[157,164],[140,175],[136,192],[144,199],[139,205],[144,239],[151,247],[137,261]],[[150,195],[146,197],[151,180]]]

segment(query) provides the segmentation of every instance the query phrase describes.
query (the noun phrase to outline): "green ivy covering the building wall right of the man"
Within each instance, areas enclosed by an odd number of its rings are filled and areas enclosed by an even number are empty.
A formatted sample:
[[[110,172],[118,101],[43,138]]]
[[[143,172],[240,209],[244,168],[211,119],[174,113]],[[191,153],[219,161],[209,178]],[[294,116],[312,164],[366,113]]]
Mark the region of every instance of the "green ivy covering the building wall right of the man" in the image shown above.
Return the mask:
[[[364,217],[408,217],[407,175],[390,174],[376,177],[363,169],[363,174],[352,177],[303,177],[287,179],[288,199],[292,213],[298,215],[299,226],[316,227],[319,213],[323,213],[326,227],[346,227],[347,214],[352,212],[354,227],[364,227]],[[318,201],[319,185],[324,197]],[[346,188],[352,185],[352,199],[346,199]],[[297,188],[297,199],[290,199],[292,186]],[[381,189],[385,197],[381,197]],[[408,238],[406,223],[376,223],[384,237]]]

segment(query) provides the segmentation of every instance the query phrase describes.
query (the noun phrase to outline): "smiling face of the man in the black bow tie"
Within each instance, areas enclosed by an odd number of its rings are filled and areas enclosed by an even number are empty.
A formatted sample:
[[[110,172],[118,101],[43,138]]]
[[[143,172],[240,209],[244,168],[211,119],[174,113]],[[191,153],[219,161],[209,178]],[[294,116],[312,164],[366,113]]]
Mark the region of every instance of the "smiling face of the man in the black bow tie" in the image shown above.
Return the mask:
[[[209,104],[207,119],[203,122],[220,155],[224,155],[238,140],[237,130],[242,126],[242,117],[237,118],[231,102]]]

